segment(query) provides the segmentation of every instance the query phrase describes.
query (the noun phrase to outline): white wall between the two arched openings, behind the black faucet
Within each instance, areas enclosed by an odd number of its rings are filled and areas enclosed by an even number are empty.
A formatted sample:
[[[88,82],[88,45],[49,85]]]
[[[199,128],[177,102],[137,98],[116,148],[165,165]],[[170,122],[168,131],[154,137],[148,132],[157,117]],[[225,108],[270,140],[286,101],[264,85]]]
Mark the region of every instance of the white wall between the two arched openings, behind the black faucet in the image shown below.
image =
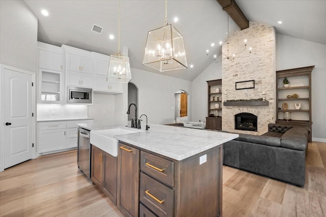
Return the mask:
[[[131,75],[131,82],[138,87],[138,114],[139,116],[147,115],[149,123],[173,122],[174,93],[176,91],[184,90],[191,98],[192,82],[188,80],[134,68],[131,68]],[[127,112],[128,107],[123,109]],[[143,120],[145,121],[145,119]]]

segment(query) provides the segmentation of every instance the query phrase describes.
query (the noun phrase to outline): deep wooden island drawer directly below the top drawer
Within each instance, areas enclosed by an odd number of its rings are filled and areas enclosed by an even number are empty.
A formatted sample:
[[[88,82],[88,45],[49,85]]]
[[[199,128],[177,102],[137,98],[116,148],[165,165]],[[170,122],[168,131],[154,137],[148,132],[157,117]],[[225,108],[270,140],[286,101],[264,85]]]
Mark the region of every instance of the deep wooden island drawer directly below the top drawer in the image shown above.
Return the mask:
[[[158,216],[173,216],[174,191],[144,173],[140,175],[140,201]]]

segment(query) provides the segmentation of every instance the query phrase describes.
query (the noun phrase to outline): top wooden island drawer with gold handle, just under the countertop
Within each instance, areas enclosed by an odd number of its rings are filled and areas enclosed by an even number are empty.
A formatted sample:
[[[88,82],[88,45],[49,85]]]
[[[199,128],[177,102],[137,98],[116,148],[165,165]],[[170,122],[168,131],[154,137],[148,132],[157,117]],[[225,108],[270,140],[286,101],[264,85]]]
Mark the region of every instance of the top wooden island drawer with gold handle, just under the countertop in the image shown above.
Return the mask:
[[[153,178],[174,186],[174,162],[141,151],[141,171]]]

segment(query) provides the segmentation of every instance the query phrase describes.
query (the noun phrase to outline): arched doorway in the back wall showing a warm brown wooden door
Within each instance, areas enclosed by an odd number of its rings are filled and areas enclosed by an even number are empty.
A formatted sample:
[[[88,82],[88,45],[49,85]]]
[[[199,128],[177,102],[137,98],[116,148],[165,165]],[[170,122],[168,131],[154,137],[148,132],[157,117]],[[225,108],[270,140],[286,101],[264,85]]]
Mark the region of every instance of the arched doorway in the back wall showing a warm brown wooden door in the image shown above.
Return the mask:
[[[188,94],[184,90],[174,93],[175,112],[174,119],[188,116]]]

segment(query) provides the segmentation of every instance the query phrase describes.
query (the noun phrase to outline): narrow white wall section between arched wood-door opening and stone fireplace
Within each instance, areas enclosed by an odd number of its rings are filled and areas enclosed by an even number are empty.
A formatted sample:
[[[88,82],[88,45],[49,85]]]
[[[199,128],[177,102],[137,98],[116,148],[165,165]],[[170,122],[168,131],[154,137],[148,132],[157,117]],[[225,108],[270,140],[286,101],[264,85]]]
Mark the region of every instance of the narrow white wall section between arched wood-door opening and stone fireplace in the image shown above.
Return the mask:
[[[192,83],[192,121],[206,121],[207,117],[207,80],[222,78],[222,65],[220,63],[210,64]]]

